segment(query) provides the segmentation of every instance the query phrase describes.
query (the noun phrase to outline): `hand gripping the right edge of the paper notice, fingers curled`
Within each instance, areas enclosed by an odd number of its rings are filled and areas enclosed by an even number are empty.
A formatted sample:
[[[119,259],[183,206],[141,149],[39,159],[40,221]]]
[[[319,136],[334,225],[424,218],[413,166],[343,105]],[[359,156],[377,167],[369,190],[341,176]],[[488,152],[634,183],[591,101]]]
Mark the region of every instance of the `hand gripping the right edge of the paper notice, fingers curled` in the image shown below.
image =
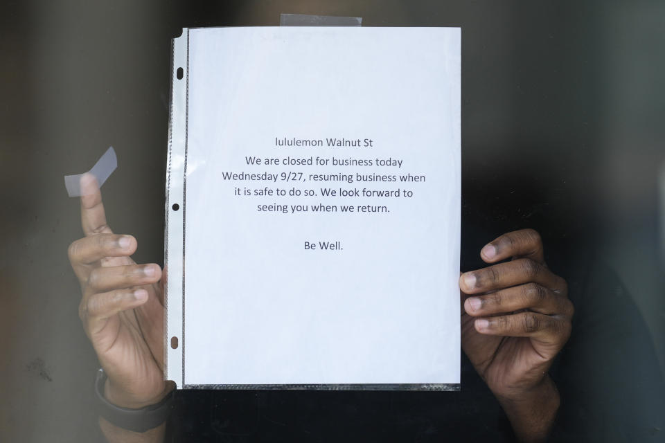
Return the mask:
[[[480,255],[486,263],[512,260],[460,276],[462,348],[515,428],[516,415],[538,408],[532,400],[542,395],[556,395],[556,413],[558,394],[547,372],[570,336],[574,309],[565,280],[544,262],[535,230],[504,234]]]

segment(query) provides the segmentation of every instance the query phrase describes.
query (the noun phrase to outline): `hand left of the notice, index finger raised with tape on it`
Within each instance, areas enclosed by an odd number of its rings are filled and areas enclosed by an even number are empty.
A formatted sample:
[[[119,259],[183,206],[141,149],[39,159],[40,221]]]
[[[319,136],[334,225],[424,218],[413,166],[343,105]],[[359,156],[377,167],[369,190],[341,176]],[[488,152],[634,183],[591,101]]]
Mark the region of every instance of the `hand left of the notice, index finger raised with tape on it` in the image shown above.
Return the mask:
[[[143,408],[172,388],[163,380],[162,271],[158,264],[136,264],[130,258],[136,239],[112,233],[96,179],[86,174],[81,188],[85,237],[69,246],[83,293],[79,316],[108,377],[105,397]]]

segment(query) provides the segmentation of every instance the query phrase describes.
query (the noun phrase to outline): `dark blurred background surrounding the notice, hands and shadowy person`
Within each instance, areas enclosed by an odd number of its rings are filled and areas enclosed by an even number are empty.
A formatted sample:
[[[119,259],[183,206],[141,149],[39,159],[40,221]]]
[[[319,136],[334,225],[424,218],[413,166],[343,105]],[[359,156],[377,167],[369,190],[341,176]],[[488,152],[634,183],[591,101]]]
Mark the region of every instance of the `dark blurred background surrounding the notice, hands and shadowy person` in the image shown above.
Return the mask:
[[[67,261],[78,201],[62,176],[113,145],[109,224],[139,239],[137,262],[161,264],[170,38],[184,26],[276,26],[281,12],[461,26],[463,226],[531,226],[560,255],[597,251],[664,368],[664,2],[3,1],[1,441],[97,433],[98,363]]]

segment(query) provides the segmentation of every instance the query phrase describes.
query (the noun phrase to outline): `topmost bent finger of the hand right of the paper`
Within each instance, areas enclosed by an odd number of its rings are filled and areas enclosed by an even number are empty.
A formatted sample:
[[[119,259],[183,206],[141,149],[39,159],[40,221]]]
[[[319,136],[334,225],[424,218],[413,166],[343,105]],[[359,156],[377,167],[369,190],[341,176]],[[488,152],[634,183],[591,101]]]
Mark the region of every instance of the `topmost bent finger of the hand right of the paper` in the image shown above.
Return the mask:
[[[480,251],[486,263],[494,263],[509,257],[530,258],[544,264],[544,252],[540,234],[533,229],[520,229],[504,234],[486,244]]]

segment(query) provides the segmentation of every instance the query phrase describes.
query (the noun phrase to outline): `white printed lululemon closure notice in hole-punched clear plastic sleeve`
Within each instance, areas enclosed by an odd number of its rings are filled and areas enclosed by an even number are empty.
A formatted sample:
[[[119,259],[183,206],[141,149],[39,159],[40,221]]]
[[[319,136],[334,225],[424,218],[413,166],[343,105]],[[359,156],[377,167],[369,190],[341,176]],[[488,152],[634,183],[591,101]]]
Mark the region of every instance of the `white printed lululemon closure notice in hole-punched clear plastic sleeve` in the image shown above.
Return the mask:
[[[459,383],[459,28],[199,28],[174,57],[166,377]]]

